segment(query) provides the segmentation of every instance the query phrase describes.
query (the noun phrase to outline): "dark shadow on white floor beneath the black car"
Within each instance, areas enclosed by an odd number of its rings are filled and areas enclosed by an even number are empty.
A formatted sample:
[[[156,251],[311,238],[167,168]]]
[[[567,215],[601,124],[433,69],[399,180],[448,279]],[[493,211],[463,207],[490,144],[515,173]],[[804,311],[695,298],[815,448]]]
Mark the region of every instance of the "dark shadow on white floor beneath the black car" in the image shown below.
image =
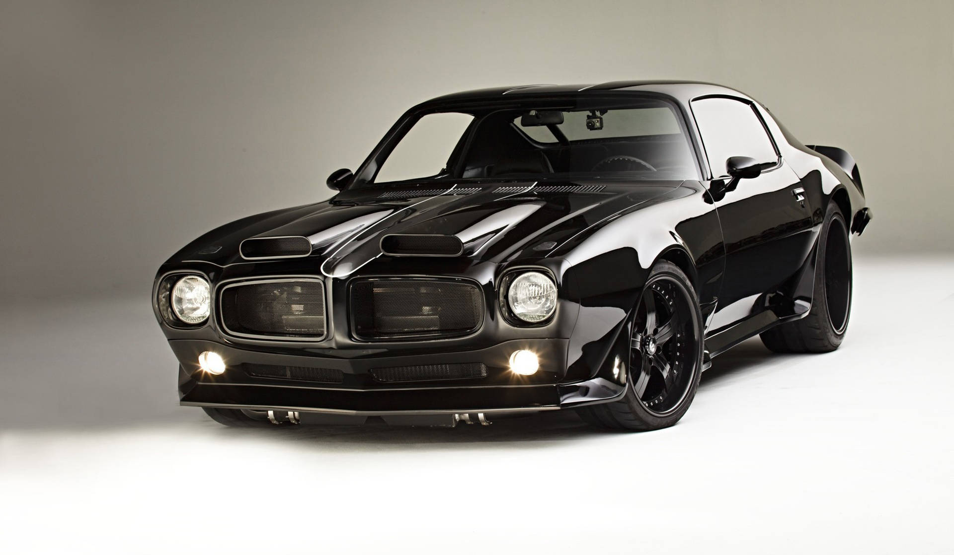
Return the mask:
[[[770,360],[774,355],[755,339],[746,341],[718,357],[702,375],[699,395],[716,389],[716,384],[731,377],[744,376]],[[716,392],[713,392],[716,394]],[[426,428],[389,426],[380,419],[371,419],[361,426],[295,426],[285,429],[223,428],[224,434],[255,435],[279,442],[296,442],[323,446],[371,447],[401,449],[408,446],[426,447],[443,443],[469,444],[487,448],[522,443],[531,448],[550,442],[598,438],[619,432],[594,429],[581,421],[575,412],[544,411],[520,418],[493,421],[490,425],[459,424],[455,428]]]

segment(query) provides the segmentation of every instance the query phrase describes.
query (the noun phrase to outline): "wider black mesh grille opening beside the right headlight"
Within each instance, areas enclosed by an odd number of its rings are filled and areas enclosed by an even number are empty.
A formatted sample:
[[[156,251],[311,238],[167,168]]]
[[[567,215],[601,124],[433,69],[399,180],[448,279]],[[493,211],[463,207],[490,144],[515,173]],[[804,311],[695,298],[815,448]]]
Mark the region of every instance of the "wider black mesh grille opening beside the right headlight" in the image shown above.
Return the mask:
[[[443,279],[373,279],[351,286],[355,335],[363,339],[466,335],[484,318],[480,288]]]

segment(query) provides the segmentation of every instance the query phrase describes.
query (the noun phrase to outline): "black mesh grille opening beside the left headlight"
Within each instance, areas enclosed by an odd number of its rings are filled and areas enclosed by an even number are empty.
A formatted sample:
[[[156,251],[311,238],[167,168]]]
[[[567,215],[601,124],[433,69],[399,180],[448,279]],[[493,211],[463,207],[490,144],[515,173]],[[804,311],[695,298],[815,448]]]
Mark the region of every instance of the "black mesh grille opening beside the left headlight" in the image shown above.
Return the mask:
[[[222,324],[239,336],[324,337],[321,281],[259,281],[222,290]]]

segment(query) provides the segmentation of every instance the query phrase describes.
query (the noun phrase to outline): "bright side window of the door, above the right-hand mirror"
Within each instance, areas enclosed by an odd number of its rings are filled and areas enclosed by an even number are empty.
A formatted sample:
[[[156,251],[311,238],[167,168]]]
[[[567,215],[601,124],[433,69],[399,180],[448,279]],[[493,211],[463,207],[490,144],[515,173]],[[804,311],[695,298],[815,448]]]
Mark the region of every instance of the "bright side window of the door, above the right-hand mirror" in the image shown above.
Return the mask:
[[[731,98],[703,98],[693,101],[693,115],[714,177],[727,175],[725,161],[732,156],[749,156],[761,163],[778,161],[752,106]]]

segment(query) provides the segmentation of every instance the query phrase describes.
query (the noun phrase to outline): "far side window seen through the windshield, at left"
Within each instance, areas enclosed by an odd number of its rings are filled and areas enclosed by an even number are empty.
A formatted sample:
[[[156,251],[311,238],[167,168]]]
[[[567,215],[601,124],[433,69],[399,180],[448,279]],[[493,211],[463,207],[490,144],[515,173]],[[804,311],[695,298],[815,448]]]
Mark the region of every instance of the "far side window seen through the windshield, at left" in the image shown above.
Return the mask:
[[[375,182],[422,179],[438,175],[473,116],[467,113],[428,113],[417,120],[384,160]]]

